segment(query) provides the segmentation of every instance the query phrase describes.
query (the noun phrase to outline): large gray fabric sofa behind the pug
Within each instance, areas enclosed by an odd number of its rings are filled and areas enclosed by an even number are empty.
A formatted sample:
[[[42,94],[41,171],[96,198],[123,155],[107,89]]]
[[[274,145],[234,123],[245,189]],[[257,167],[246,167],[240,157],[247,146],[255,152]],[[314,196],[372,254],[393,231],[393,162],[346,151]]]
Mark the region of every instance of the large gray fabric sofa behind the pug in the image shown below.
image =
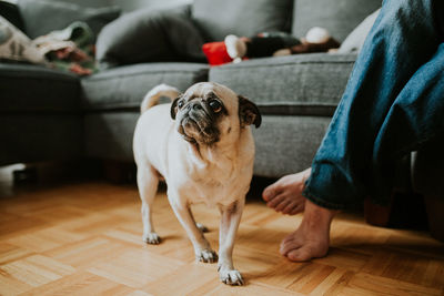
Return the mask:
[[[381,0],[194,0],[161,11],[140,7],[100,32],[102,71],[91,76],[0,62],[0,165],[83,159],[132,163],[132,135],[147,91],[159,83],[185,90],[195,82],[214,81],[261,109],[263,124],[254,130],[254,174],[279,177],[303,170],[322,141],[356,55],[311,53],[210,68],[200,55],[200,42],[260,31],[302,37],[312,27],[326,28],[343,41],[380,6]],[[23,14],[22,9],[11,7],[9,17],[18,25],[22,21],[32,35],[30,24],[46,19],[28,21],[34,10]],[[165,20],[175,30],[165,31]],[[427,177],[422,185],[421,178],[431,175],[430,157],[418,153],[414,175],[417,191],[436,200],[442,191],[434,187],[442,183]],[[403,171],[410,176],[407,169]],[[410,180],[401,183],[410,187]]]

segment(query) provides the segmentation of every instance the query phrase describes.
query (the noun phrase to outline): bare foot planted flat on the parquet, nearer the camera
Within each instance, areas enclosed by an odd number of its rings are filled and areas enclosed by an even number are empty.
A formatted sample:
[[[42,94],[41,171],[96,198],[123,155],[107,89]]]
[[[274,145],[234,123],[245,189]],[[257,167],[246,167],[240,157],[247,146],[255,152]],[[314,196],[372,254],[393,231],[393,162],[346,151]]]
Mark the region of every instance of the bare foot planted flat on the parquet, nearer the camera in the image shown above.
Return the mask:
[[[330,224],[336,212],[306,200],[302,223],[282,241],[280,253],[295,262],[325,256],[330,244]]]

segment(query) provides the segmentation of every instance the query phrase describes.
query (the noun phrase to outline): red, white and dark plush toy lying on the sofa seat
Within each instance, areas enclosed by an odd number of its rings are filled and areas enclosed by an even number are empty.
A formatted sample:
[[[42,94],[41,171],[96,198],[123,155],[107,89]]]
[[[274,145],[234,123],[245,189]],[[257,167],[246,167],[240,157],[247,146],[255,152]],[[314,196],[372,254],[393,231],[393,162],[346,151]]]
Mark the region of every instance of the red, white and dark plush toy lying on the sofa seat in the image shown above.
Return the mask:
[[[224,41],[203,44],[202,50],[211,65],[219,65],[253,58],[327,52],[339,47],[340,42],[327,30],[315,27],[301,39],[283,32],[265,32],[252,38],[230,34]]]

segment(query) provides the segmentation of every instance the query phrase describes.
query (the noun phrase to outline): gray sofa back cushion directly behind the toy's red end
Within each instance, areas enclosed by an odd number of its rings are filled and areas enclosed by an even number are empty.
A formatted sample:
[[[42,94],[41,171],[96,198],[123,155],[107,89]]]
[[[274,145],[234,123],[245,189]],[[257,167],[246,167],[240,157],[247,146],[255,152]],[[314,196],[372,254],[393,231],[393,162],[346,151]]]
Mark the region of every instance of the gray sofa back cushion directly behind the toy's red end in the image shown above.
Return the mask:
[[[206,41],[291,28],[293,0],[194,0],[192,17]]]

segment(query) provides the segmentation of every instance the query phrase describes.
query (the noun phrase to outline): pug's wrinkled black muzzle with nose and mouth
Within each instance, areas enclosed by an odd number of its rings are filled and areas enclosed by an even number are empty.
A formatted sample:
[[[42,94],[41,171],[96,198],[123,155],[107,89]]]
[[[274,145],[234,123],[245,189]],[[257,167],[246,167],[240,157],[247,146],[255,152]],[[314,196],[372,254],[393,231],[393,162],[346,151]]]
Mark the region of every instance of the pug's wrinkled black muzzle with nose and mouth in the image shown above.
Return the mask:
[[[180,118],[179,133],[190,143],[212,145],[219,142],[220,132],[215,116],[203,101],[188,103]]]

